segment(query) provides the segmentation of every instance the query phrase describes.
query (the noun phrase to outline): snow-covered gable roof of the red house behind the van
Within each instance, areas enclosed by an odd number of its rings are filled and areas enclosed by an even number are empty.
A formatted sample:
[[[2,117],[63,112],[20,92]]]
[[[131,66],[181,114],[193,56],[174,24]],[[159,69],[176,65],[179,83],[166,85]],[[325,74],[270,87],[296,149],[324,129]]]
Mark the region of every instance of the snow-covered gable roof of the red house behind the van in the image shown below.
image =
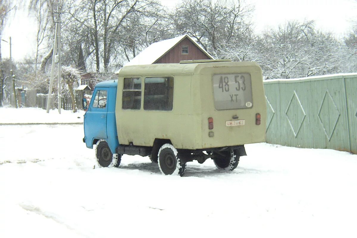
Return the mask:
[[[198,45],[195,40],[193,40],[189,35],[185,34],[182,36],[177,36],[172,39],[162,40],[149,45],[146,49],[140,52],[139,55],[135,56],[132,60],[124,64],[127,65],[151,65],[163,55],[165,55],[169,50],[174,48],[183,39],[188,38],[196,45],[202,52],[209,58],[214,59],[202,46]]]

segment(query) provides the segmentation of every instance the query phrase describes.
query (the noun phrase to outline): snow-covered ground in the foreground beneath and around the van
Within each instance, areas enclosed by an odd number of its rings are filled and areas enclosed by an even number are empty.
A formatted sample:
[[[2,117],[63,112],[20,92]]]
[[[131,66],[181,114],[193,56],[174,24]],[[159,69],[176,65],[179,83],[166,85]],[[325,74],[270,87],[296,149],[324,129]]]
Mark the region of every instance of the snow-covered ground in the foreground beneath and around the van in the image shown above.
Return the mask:
[[[0,237],[357,236],[357,155],[253,144],[231,173],[191,162],[172,177],[140,156],[93,169],[82,138],[0,126]]]

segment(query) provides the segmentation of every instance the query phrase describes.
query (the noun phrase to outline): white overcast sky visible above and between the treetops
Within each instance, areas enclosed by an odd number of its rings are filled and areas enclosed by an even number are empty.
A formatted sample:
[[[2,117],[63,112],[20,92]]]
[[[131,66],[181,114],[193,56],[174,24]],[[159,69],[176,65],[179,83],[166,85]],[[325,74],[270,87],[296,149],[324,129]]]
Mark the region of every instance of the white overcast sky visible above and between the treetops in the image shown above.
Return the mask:
[[[172,8],[181,0],[161,0]],[[255,5],[252,20],[256,33],[276,27],[287,20],[315,20],[318,29],[331,31],[341,37],[357,21],[357,0],[245,0]],[[338,2],[338,3],[337,3]],[[12,38],[12,57],[20,60],[35,50],[35,23],[26,10],[17,10],[7,20],[2,39]],[[1,41],[2,57],[9,57],[9,44]]]

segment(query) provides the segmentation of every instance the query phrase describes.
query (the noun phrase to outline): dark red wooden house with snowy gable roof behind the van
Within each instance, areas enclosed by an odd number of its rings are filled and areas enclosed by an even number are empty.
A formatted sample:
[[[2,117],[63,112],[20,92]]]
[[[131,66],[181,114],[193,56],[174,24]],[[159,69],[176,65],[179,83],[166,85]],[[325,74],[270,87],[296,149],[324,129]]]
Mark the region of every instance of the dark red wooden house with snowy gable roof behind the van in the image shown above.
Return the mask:
[[[124,64],[150,65],[179,63],[181,60],[212,60],[205,49],[187,34],[172,39],[158,41],[140,52],[139,55]]]

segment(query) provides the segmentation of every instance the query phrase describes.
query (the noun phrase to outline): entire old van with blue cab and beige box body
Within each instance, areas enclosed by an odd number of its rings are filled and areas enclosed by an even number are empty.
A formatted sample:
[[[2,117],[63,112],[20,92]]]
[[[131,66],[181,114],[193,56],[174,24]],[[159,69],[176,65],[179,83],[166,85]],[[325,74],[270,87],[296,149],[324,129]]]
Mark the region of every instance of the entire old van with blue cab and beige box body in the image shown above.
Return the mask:
[[[149,156],[166,175],[182,176],[187,162],[208,158],[232,171],[245,144],[265,142],[265,122],[262,71],[254,62],[125,66],[117,80],[96,85],[84,142],[97,144],[104,167],[119,166],[127,154]]]

